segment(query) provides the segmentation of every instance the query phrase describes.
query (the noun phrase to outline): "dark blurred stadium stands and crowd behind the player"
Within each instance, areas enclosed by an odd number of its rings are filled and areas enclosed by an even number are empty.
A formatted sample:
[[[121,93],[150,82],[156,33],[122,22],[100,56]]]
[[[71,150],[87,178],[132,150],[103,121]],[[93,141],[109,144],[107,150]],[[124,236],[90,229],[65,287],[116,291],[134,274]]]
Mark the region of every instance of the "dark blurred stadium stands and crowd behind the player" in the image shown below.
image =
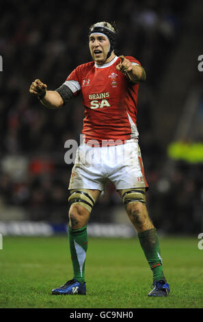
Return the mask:
[[[104,20],[118,26],[117,53],[135,56],[147,73],[139,89],[137,127],[154,225],[163,234],[203,232],[202,12],[202,1],[1,3],[3,236],[66,231],[72,164],[64,162],[64,143],[79,142],[81,97],[62,110],[49,110],[29,94],[29,86],[40,78],[54,90],[72,69],[91,60],[87,31]],[[90,225],[95,236],[134,233],[111,184]]]

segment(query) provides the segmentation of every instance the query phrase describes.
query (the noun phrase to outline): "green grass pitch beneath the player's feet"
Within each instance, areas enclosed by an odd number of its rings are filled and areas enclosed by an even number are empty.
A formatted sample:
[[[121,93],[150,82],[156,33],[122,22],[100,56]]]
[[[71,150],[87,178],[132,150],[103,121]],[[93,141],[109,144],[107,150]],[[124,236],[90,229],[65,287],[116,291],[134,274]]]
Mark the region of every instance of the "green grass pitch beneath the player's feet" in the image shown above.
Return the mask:
[[[203,308],[198,238],[159,238],[169,297],[148,297],[152,272],[137,237],[89,238],[87,295],[51,295],[72,278],[66,236],[3,237],[0,308]]]

